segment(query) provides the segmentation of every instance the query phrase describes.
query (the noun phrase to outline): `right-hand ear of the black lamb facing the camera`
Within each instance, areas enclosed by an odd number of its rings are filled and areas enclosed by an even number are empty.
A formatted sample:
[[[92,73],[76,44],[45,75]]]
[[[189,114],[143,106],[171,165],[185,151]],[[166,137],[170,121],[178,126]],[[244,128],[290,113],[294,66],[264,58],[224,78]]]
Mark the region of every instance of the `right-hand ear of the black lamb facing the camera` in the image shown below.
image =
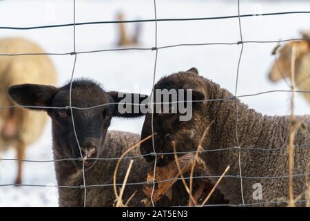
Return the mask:
[[[110,91],[108,94],[118,105],[114,106],[114,117],[140,117],[146,114],[147,95]]]

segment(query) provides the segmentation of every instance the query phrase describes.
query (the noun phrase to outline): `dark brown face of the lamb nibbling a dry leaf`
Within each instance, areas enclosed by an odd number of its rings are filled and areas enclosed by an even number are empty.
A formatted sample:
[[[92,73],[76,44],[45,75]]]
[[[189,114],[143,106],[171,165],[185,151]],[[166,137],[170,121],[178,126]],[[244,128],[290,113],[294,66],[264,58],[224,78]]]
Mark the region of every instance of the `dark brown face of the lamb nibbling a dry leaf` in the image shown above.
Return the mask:
[[[190,82],[190,84],[189,84]],[[167,89],[167,90],[192,90],[191,97],[183,97],[181,99],[177,96],[177,100],[169,98],[169,102],[185,102],[192,104],[191,111],[192,117],[189,120],[181,120],[180,109],[176,113],[154,113],[153,114],[153,128],[154,128],[154,140],[149,139],[143,142],[140,146],[141,153],[145,155],[145,160],[149,164],[153,165],[155,157],[150,154],[156,152],[156,166],[166,166],[174,158],[174,148],[176,152],[187,152],[195,151],[198,146],[198,141],[203,134],[203,126],[205,122],[205,116],[202,114],[205,110],[205,104],[202,102],[193,102],[206,99],[205,91],[200,87],[200,79],[197,73],[192,73],[192,69],[183,73],[176,73],[163,77],[155,85],[156,89]],[[156,104],[163,102],[162,100],[156,99],[154,95],[154,102]],[[172,105],[167,108],[169,111],[172,110]],[[174,108],[175,109],[175,108]],[[184,115],[183,115],[184,116]],[[206,124],[207,125],[207,124]],[[152,114],[147,113],[145,115],[145,122],[143,124],[141,139],[152,135]],[[154,142],[154,143],[153,143]],[[163,153],[161,155],[161,153]],[[165,154],[169,153],[169,154]],[[180,154],[178,154],[180,156]]]

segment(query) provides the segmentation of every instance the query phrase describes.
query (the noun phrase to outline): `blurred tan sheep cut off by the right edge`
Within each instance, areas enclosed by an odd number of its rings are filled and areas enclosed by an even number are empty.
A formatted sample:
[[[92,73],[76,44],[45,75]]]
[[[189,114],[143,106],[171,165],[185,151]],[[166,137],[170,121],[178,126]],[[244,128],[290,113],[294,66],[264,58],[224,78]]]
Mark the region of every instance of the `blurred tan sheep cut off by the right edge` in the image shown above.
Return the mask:
[[[278,50],[278,57],[269,72],[273,82],[291,78],[291,53],[296,48],[295,81],[298,90],[310,91],[310,33],[302,33],[309,40],[290,41]],[[310,93],[302,93],[310,104]]]

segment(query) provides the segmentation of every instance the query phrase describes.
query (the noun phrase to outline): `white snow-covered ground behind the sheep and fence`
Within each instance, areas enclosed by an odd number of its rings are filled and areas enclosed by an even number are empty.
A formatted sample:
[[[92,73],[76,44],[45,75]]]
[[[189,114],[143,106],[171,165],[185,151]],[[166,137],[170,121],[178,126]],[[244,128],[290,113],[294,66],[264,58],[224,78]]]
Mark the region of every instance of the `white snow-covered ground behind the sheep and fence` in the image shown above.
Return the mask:
[[[237,15],[237,0],[185,1],[157,0],[157,16],[162,18],[216,17]],[[240,1],[241,14],[265,12],[310,11],[309,1]],[[0,26],[43,26],[72,23],[73,1],[0,1]],[[76,22],[110,21],[116,12],[123,11],[126,19],[153,19],[153,0],[76,0]],[[279,15],[247,17],[241,19],[244,41],[278,40],[298,37],[300,30],[310,29],[310,15]],[[141,44],[154,46],[154,23],[142,23]],[[134,25],[128,24],[129,28]],[[47,52],[71,52],[73,28],[47,28],[37,30],[4,30],[0,37],[22,36],[32,39]],[[76,51],[116,48],[116,25],[98,24],[76,26]],[[207,21],[158,22],[158,46],[170,44],[198,44],[207,42],[235,42],[240,40],[238,19]],[[238,95],[258,93],[264,90],[289,89],[284,82],[271,84],[267,72],[276,44],[245,44]],[[183,46],[166,48],[158,52],[156,80],[163,75],[192,66],[200,75],[213,79],[224,88],[234,91],[236,68],[240,46]],[[52,56],[59,73],[59,84],[70,79],[74,57]],[[75,77],[90,77],[100,81],[107,90],[128,90],[150,93],[155,52],[128,50],[96,52],[78,55]],[[269,115],[289,113],[289,93],[269,93],[256,97],[244,97],[252,108]],[[309,113],[310,106],[301,95],[296,99],[296,112]],[[111,129],[141,132],[143,119],[113,119]],[[41,139],[27,149],[27,159],[51,160],[50,124]],[[14,157],[8,151],[4,158]],[[0,184],[12,184],[16,175],[16,162],[0,161]],[[24,164],[24,184],[56,184],[52,163]],[[57,206],[56,191],[52,187],[0,186],[0,206]]]

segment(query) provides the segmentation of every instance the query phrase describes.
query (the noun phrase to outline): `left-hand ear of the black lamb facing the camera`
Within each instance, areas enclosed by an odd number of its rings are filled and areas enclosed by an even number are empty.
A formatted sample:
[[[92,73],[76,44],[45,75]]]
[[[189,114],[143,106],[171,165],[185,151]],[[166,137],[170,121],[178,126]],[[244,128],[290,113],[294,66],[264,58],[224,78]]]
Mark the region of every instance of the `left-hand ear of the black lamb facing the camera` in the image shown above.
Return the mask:
[[[40,106],[51,106],[57,88],[54,86],[40,84],[19,84],[11,86],[8,94],[14,102],[21,106],[35,106],[38,108],[26,107],[37,111],[46,111]]]

